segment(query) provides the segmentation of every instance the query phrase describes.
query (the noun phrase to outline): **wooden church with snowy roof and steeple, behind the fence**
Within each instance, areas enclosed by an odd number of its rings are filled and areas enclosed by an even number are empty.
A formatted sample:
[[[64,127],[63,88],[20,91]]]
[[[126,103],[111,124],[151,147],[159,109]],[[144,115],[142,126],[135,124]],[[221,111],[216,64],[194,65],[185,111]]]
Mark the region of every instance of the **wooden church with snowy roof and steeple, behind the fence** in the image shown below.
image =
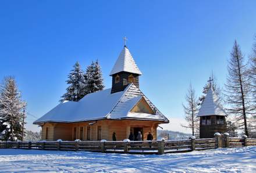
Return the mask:
[[[124,46],[110,73],[112,88],[90,93],[79,102],[65,101],[34,121],[42,127],[42,140],[117,140],[138,131],[157,139],[159,124],[168,118],[139,89],[141,75],[129,49]]]

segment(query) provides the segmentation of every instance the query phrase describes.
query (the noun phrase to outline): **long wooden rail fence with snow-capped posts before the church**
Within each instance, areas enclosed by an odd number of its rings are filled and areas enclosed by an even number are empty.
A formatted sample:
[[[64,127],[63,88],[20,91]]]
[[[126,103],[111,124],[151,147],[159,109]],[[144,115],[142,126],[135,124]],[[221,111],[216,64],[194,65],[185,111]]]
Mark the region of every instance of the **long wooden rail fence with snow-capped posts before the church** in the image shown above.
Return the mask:
[[[73,150],[102,153],[165,154],[208,150],[218,147],[256,146],[256,139],[229,138],[228,135],[207,139],[162,141],[40,141],[0,142],[0,149]]]

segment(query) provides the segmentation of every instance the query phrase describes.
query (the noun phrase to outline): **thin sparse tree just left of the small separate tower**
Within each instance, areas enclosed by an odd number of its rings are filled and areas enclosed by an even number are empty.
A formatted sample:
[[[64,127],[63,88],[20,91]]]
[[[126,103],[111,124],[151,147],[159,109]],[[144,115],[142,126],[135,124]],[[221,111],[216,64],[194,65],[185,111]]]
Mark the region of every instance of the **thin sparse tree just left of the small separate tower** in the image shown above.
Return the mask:
[[[186,102],[187,104],[183,104],[184,112],[186,114],[186,121],[188,122],[188,125],[182,125],[182,127],[185,128],[191,128],[192,129],[192,135],[198,136],[199,132],[199,118],[197,117],[198,113],[198,99],[195,96],[195,90],[192,88],[191,84],[188,90],[188,93],[186,94]]]

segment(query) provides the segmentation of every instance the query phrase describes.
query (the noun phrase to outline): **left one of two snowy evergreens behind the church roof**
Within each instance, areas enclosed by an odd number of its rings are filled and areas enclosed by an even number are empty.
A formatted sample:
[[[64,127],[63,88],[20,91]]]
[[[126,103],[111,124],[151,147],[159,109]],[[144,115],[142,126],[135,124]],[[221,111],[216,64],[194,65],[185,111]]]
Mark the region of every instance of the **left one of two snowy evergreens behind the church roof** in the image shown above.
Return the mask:
[[[69,87],[67,87],[66,93],[62,96],[60,102],[64,100],[77,102],[84,96],[84,75],[80,69],[79,62],[76,62],[73,68],[67,76],[68,80],[66,82],[69,84]]]

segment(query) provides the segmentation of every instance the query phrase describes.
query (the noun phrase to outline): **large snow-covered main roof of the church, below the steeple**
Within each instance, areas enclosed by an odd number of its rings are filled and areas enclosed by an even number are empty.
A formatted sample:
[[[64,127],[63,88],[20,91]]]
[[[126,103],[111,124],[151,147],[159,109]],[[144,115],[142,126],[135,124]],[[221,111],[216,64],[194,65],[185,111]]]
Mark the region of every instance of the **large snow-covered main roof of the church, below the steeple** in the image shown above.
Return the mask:
[[[155,114],[130,113],[130,110],[144,98]],[[79,102],[62,102],[47,114],[34,121],[42,122],[80,122],[101,119],[145,119],[169,122],[134,84],[124,91],[111,93],[105,89],[84,96]]]

